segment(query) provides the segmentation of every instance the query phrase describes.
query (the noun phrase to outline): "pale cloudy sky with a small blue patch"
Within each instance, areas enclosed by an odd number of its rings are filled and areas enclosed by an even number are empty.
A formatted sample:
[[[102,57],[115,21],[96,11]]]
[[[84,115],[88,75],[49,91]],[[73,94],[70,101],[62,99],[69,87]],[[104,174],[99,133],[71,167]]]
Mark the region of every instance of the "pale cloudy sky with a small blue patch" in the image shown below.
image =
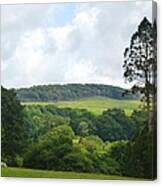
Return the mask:
[[[8,88],[54,83],[127,87],[123,52],[151,1],[1,7],[1,78]]]

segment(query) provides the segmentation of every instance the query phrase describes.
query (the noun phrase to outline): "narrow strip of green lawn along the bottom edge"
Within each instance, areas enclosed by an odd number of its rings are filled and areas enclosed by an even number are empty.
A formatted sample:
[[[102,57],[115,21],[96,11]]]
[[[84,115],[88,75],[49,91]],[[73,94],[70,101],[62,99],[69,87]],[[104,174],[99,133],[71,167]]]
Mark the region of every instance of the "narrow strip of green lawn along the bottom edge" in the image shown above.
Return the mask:
[[[98,179],[98,180],[134,180],[137,178],[111,176],[93,173],[76,173],[62,171],[46,171],[24,168],[2,168],[2,177],[24,177],[24,178],[64,178],[64,179]]]

